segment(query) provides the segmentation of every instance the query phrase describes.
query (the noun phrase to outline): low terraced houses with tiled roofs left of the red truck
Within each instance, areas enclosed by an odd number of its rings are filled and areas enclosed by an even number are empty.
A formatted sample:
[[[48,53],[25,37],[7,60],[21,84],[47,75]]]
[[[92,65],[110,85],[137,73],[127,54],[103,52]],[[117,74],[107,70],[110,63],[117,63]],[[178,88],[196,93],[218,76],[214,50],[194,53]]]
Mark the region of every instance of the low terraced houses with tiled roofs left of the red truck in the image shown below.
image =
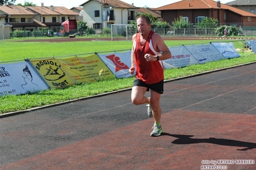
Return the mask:
[[[0,22],[12,25],[15,29],[34,31],[51,29],[58,32],[67,19],[75,19],[79,13],[62,6],[0,6]]]

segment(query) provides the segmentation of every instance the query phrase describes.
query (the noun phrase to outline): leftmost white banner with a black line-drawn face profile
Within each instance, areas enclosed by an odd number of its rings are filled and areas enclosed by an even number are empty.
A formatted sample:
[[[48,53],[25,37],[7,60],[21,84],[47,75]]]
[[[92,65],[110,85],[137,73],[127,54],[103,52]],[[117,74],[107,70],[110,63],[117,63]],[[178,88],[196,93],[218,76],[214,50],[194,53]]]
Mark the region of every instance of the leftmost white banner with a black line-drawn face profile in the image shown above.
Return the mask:
[[[47,88],[26,61],[0,64],[0,96],[33,93]]]

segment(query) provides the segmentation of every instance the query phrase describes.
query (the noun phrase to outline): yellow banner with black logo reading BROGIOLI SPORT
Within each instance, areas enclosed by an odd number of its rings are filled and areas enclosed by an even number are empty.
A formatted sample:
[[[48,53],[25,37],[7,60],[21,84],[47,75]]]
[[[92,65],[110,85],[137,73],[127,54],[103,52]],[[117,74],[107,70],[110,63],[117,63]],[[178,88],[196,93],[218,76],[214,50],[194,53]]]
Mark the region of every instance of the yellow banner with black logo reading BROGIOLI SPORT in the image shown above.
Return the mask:
[[[74,84],[58,59],[31,59],[30,62],[51,88],[65,88]]]

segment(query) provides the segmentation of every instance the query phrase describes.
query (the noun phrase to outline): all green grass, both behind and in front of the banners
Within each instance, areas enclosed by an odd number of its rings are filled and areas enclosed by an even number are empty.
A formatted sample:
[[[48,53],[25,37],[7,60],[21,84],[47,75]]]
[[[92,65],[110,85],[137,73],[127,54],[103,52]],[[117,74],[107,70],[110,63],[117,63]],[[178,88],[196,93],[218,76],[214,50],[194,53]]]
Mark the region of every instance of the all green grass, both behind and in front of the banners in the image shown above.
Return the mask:
[[[215,42],[219,40],[168,40],[166,44],[168,47],[192,44],[206,44],[210,41]],[[223,41],[223,40],[222,40]],[[224,41],[227,42],[227,41]],[[243,41],[233,42],[235,49],[243,48]],[[31,58],[49,58],[53,56],[69,56],[74,54],[87,54],[90,52],[104,52],[115,50],[130,50],[132,47],[131,41],[120,42],[0,42],[0,63],[4,61],[14,61]],[[244,63],[252,63],[256,61],[256,54],[254,52],[239,52],[241,58],[223,59],[220,61],[213,61],[203,65],[191,65],[184,68],[175,68],[165,70],[165,80],[175,79],[187,75],[194,75],[197,73],[208,72],[219,68],[228,68],[230,66],[241,65]],[[34,94],[26,95],[9,95],[0,97],[0,114],[13,111],[22,111],[32,107],[40,107],[49,104],[56,104],[65,102],[67,100],[74,100],[77,98],[89,97],[118,89],[131,88],[133,77],[128,79],[104,79],[98,82],[87,82],[77,84],[65,89],[49,89],[40,91]]]

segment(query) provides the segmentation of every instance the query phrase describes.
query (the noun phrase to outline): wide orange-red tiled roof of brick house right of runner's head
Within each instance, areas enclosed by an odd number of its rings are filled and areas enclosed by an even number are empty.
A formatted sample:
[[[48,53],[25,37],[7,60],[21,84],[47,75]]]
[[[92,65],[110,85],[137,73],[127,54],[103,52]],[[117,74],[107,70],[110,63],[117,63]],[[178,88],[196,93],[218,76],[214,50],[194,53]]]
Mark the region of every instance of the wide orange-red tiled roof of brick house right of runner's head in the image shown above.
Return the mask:
[[[161,6],[159,8],[155,8],[154,10],[162,11],[162,10],[191,10],[191,9],[224,9],[230,10],[232,12],[238,13],[239,15],[246,17],[256,17],[255,14],[246,12],[244,10],[240,10],[238,8],[234,8],[232,6],[228,6],[226,4],[220,3],[220,8],[217,6],[216,1],[212,0],[182,0],[173,4],[167,4],[165,6]]]

